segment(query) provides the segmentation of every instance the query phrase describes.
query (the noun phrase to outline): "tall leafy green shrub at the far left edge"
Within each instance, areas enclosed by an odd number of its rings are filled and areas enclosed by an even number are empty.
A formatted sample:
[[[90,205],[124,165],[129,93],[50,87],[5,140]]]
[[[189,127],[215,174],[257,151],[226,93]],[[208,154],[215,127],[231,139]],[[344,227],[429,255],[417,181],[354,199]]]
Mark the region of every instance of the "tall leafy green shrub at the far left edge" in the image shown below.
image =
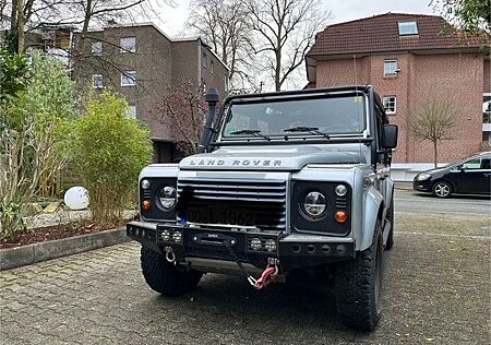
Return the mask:
[[[25,229],[25,206],[70,156],[74,83],[57,59],[34,51],[32,61],[27,69],[24,57],[2,52],[0,238]]]

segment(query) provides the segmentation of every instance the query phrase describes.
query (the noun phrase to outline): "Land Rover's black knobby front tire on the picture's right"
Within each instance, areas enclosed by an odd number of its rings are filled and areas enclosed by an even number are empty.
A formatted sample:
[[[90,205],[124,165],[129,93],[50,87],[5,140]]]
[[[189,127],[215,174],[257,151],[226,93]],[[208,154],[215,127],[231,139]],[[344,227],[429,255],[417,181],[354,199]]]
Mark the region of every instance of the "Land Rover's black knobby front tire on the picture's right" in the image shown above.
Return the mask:
[[[376,222],[372,246],[339,266],[335,281],[337,310],[352,329],[373,331],[382,314],[383,238]]]

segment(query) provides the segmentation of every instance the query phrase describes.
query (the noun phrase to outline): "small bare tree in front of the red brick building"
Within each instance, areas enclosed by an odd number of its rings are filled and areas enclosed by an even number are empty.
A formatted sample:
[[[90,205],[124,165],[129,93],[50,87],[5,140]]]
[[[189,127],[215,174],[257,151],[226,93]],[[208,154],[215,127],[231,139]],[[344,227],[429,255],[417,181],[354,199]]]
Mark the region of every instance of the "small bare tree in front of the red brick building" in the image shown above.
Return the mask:
[[[432,97],[423,102],[419,112],[407,118],[410,133],[433,144],[434,167],[438,166],[438,144],[452,139],[458,111],[448,97]]]

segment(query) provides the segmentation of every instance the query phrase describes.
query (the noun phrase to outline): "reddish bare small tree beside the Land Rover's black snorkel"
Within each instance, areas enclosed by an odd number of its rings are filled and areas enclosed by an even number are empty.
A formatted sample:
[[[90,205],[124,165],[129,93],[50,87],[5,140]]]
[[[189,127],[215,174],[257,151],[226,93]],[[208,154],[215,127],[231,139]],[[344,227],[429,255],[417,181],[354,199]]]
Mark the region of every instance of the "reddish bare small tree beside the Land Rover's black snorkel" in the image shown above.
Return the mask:
[[[192,81],[183,81],[168,90],[156,105],[159,121],[175,133],[176,144],[185,154],[197,153],[197,144],[203,132],[206,105],[203,86],[196,87]]]

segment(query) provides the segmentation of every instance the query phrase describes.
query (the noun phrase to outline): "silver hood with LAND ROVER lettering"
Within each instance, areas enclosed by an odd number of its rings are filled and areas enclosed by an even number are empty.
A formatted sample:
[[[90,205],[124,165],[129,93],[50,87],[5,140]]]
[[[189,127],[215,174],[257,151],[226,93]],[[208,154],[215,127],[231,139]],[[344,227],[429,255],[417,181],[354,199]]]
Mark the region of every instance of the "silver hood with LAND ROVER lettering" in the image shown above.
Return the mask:
[[[364,162],[360,146],[304,145],[268,147],[221,147],[212,153],[185,157],[180,169],[192,170],[287,170],[296,171],[308,164],[358,164]]]

